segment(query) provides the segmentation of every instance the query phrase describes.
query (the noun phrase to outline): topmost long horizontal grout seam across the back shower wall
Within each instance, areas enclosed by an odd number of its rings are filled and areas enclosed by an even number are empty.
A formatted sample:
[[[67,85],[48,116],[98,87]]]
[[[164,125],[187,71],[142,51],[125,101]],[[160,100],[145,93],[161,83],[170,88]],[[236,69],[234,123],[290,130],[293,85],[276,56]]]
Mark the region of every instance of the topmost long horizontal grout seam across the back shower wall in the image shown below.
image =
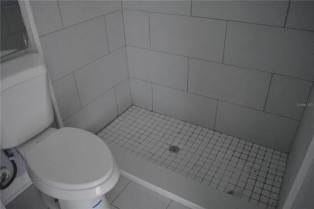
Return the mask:
[[[174,14],[174,13],[152,12],[152,11],[148,11],[148,10],[139,10],[139,9],[126,9],[126,8],[123,8],[123,9],[124,10],[131,10],[131,11],[138,11],[138,12],[150,12],[150,13],[165,14],[165,15],[176,15],[176,16],[191,17],[191,18],[229,21],[229,22],[236,22],[236,23],[259,25],[259,26],[271,26],[271,27],[287,28],[287,29],[292,29],[292,30],[302,30],[302,31],[314,32],[314,30],[306,30],[306,29],[291,28],[291,27],[284,27],[284,26],[261,24],[261,23],[253,23],[253,22],[236,21],[236,20],[229,20],[229,19],[208,18],[208,17],[200,17],[200,16],[194,16],[194,15],[182,15],[182,14],[179,15],[179,14]]]

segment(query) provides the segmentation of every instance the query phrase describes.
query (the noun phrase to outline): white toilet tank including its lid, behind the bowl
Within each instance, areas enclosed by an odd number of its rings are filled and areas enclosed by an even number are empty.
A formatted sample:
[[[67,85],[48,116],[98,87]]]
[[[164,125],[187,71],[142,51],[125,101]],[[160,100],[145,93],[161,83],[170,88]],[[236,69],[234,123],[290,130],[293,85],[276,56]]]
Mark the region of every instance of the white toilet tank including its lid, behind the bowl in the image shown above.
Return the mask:
[[[44,58],[35,53],[0,65],[1,149],[18,146],[54,119]]]

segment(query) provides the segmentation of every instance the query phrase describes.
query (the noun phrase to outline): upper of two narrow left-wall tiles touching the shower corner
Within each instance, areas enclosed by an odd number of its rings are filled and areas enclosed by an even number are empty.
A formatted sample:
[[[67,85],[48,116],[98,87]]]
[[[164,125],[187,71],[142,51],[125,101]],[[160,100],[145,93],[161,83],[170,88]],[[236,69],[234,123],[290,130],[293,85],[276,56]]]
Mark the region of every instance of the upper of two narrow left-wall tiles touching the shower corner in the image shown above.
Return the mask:
[[[125,45],[122,11],[105,15],[109,52]]]

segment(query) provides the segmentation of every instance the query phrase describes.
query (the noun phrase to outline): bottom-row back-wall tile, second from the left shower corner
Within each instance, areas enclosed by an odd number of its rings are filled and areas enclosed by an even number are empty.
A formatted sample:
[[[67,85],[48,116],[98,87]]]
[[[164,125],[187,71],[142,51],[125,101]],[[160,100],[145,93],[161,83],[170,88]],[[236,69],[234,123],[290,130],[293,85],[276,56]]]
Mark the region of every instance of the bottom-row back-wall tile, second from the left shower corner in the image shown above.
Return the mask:
[[[213,129],[217,101],[153,84],[153,111]]]

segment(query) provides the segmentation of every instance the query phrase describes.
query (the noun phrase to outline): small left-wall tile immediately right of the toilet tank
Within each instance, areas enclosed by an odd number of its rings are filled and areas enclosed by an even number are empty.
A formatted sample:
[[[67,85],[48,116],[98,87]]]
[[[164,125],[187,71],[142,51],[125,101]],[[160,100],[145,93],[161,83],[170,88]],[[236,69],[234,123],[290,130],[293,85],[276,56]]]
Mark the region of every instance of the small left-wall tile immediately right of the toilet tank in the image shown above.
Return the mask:
[[[81,108],[78,90],[72,73],[53,82],[52,87],[62,120],[65,120]]]

